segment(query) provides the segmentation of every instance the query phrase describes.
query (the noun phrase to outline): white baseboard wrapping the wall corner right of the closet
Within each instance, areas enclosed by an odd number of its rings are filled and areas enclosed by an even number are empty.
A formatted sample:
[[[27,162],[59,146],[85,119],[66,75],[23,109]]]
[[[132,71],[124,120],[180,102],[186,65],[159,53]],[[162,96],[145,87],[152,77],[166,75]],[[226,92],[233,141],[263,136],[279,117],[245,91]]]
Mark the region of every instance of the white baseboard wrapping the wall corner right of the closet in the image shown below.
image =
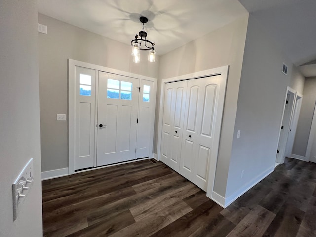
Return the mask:
[[[233,194],[231,194],[228,197],[223,197],[213,191],[212,193],[212,200],[215,201],[217,204],[219,204],[221,207],[226,208],[230,204],[232,204],[238,197],[246,193],[249,189],[251,189],[253,186],[258,184],[261,180],[263,180],[265,177],[267,177],[269,174],[271,174],[274,171],[274,166],[265,170],[261,174],[259,174],[257,177],[252,179],[250,182],[243,185],[240,189],[235,191]]]

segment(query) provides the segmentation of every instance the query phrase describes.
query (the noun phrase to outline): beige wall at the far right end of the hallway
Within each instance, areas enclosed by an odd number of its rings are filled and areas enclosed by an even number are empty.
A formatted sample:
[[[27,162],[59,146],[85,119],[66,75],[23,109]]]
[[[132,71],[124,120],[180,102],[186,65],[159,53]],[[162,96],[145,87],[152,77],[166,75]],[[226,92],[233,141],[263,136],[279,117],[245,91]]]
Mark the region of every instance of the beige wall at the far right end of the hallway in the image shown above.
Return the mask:
[[[316,77],[306,78],[292,154],[305,157],[316,101]]]

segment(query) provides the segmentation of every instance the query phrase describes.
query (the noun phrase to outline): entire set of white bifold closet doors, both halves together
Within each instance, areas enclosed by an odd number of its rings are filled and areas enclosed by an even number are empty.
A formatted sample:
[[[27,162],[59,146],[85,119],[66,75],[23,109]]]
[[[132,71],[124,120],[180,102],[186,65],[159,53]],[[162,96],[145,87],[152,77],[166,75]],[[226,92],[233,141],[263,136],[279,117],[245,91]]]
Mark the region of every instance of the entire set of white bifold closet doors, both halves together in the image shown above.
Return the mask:
[[[212,145],[216,113],[223,111],[218,108],[220,81],[221,75],[210,76],[168,83],[165,89],[161,161],[204,191],[211,151],[218,149]]]

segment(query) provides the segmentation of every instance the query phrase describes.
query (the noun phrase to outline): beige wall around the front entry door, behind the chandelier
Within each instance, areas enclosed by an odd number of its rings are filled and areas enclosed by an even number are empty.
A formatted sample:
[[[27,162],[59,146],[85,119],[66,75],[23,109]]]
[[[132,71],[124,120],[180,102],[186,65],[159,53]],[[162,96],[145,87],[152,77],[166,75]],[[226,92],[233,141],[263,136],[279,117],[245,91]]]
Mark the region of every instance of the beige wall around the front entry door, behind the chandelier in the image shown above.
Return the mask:
[[[68,167],[68,122],[56,121],[57,114],[68,114],[68,58],[158,78],[159,56],[149,63],[145,52],[135,64],[128,44],[42,14],[39,23],[48,29],[39,33],[41,156],[47,171]]]

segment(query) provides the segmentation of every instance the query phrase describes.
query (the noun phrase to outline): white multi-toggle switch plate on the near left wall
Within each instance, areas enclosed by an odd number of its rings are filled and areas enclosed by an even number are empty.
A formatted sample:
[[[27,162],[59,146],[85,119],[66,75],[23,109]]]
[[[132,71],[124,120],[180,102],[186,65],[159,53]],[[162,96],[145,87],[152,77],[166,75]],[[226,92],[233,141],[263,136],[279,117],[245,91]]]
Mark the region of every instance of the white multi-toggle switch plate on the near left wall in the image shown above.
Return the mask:
[[[14,221],[17,218],[21,204],[30,192],[33,182],[33,158],[31,158],[29,162],[24,166],[24,168],[22,169],[14,183],[12,184]]]

